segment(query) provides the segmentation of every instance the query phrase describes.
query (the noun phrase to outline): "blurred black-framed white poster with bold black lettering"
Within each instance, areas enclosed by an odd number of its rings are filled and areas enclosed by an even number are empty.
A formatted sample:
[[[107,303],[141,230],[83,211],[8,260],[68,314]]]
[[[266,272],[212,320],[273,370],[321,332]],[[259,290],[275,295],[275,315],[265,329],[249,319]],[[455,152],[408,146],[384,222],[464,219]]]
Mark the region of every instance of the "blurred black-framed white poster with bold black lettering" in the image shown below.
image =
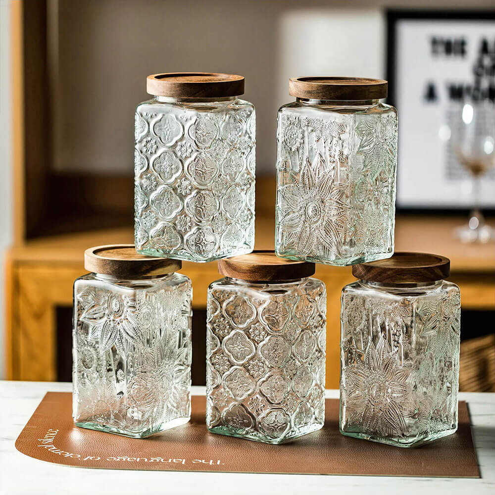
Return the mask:
[[[388,102],[398,111],[397,208],[468,209],[472,176],[451,130],[466,97],[495,101],[495,11],[388,10],[387,41]],[[495,168],[480,183],[481,207],[495,210]]]

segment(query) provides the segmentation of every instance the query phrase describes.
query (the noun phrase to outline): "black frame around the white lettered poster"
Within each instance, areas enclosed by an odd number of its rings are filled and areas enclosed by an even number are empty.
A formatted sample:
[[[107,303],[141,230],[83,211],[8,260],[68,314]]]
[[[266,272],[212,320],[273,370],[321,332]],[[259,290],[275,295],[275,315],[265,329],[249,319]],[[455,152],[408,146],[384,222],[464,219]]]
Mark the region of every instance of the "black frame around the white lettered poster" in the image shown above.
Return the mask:
[[[396,85],[396,25],[397,21],[404,19],[436,20],[436,21],[486,21],[495,20],[494,9],[462,10],[462,9],[385,9],[386,17],[386,79],[388,85],[387,103],[396,106],[397,85]],[[399,117],[400,117],[400,109]],[[397,176],[400,169],[397,169]],[[439,207],[407,207],[396,203],[396,212],[400,214],[442,214],[448,216],[467,215],[469,208],[439,208]],[[483,208],[483,213],[487,216],[495,215],[495,208]]]

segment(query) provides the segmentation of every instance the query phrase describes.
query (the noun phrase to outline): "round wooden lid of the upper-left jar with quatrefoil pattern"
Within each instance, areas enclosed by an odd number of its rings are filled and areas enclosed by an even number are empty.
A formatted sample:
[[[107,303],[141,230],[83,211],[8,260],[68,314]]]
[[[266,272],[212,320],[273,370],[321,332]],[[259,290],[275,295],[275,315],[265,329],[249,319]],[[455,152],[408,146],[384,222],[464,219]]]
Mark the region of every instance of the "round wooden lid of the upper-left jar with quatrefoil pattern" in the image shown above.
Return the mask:
[[[172,98],[225,98],[244,94],[244,77],[216,72],[151,74],[146,91]]]

